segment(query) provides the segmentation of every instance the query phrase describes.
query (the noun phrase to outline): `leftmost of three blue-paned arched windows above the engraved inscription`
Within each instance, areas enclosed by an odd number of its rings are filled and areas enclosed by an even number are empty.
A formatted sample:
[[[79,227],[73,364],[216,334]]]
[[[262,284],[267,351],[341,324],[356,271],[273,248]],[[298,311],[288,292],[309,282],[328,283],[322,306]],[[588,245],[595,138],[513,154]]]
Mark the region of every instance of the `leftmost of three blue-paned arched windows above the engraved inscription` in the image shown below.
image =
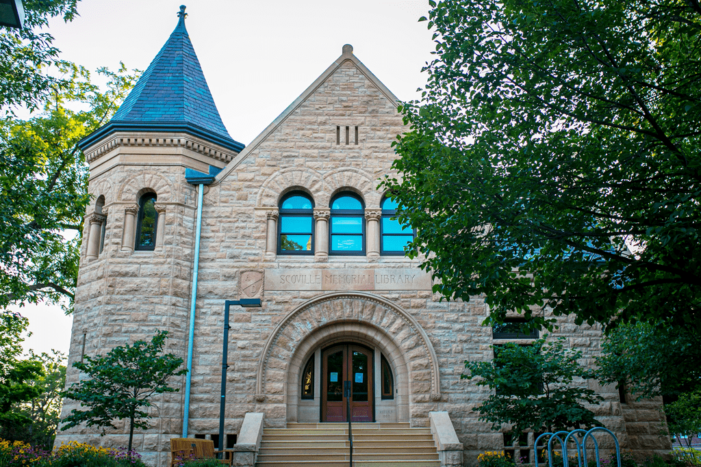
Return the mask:
[[[295,191],[280,201],[279,255],[314,254],[314,202]]]

